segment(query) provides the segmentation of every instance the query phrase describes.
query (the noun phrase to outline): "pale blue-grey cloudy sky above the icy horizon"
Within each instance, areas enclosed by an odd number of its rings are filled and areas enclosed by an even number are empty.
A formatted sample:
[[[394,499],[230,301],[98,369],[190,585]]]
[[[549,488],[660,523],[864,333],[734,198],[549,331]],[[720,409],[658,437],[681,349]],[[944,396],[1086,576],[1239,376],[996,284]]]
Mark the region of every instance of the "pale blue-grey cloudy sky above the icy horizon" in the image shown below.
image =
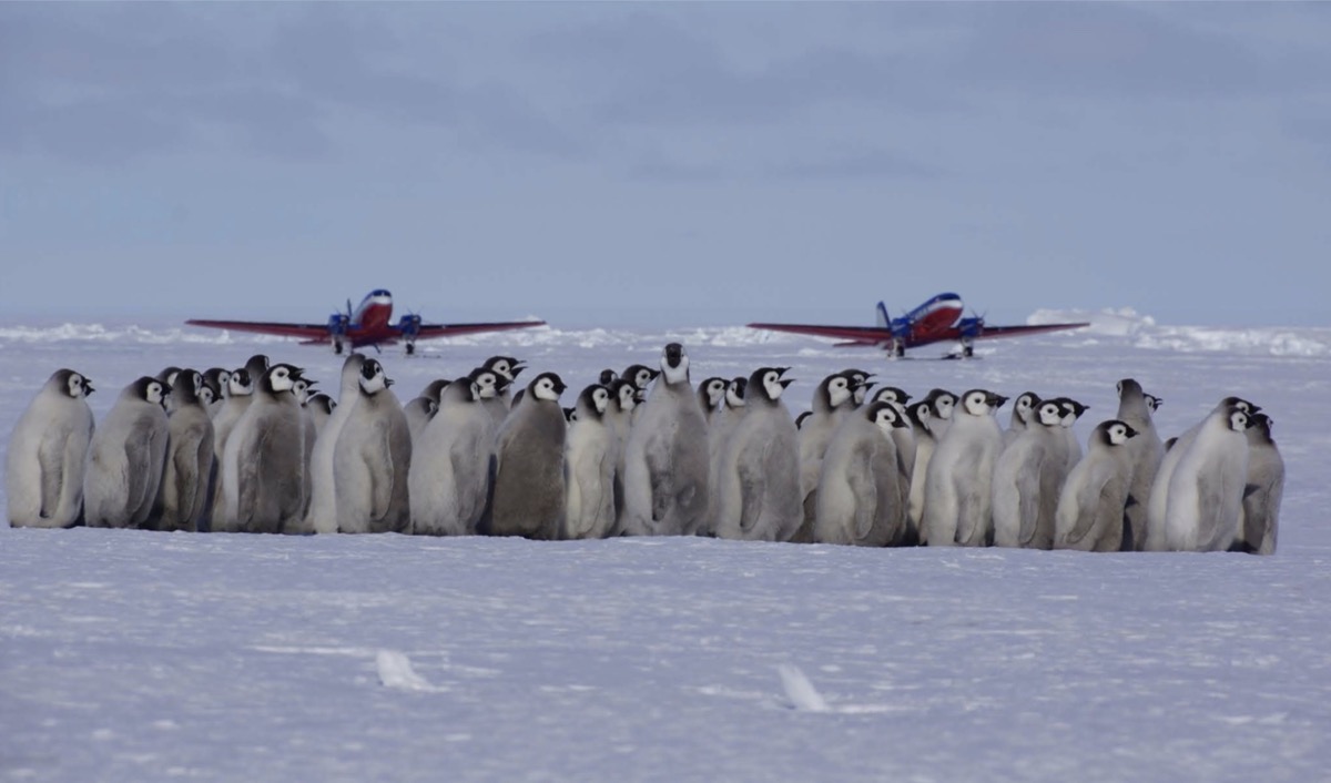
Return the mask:
[[[0,318],[1324,325],[1331,4],[0,4]]]

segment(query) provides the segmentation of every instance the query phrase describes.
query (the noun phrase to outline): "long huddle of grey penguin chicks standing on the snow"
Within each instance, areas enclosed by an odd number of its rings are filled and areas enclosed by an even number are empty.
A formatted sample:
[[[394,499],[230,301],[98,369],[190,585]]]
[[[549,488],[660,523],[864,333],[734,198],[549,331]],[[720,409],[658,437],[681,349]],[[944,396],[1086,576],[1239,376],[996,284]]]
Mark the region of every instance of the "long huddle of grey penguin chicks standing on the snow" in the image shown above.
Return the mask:
[[[1275,551],[1284,466],[1271,419],[1226,397],[1162,442],[1159,398],[1125,378],[1083,453],[1086,406],[933,389],[910,403],[872,374],[783,402],[789,368],[689,380],[603,370],[572,407],[556,373],[514,392],[496,356],[401,403],[383,365],[350,354],[337,401],[303,372],[168,368],[129,384],[100,425],[91,381],[56,372],[19,419],[13,526],[232,533],[411,533],[587,539],[709,535],[858,546]],[[878,386],[874,390],[874,386]],[[872,392],[872,394],[870,394]]]

